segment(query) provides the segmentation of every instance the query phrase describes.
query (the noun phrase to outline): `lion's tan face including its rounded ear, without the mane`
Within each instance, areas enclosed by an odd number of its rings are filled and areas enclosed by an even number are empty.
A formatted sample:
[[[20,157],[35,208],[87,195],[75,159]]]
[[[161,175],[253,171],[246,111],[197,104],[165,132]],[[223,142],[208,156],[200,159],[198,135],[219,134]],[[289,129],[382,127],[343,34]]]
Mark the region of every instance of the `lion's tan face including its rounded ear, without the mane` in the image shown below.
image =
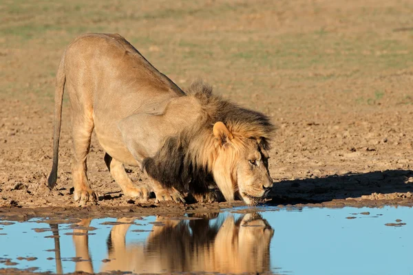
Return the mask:
[[[222,195],[231,201],[238,190],[248,204],[261,201],[273,187],[266,141],[236,136],[222,122],[215,123],[213,132],[219,146],[213,175]]]

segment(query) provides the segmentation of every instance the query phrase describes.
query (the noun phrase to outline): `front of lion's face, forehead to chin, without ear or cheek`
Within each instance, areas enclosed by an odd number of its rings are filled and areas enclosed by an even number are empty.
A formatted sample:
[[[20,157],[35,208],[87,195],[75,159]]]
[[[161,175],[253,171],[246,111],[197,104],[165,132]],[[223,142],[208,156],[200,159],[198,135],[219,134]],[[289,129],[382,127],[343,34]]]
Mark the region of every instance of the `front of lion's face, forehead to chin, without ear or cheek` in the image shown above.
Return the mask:
[[[268,171],[268,155],[257,140],[248,139],[245,144],[244,152],[237,158],[236,184],[242,199],[253,204],[268,194],[273,187],[273,179]]]

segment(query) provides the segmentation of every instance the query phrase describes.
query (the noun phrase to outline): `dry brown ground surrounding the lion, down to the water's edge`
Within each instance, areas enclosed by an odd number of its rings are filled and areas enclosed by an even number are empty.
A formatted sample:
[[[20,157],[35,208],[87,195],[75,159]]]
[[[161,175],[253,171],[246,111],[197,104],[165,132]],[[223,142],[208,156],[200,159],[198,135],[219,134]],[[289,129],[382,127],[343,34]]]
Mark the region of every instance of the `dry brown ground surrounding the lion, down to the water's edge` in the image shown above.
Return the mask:
[[[183,89],[203,78],[224,98],[271,116],[270,203],[412,205],[412,12],[410,0],[2,1],[0,217],[229,207],[128,200],[94,138],[88,175],[100,201],[77,208],[67,100],[58,185],[47,189],[54,74],[65,46],[85,32],[117,32]]]

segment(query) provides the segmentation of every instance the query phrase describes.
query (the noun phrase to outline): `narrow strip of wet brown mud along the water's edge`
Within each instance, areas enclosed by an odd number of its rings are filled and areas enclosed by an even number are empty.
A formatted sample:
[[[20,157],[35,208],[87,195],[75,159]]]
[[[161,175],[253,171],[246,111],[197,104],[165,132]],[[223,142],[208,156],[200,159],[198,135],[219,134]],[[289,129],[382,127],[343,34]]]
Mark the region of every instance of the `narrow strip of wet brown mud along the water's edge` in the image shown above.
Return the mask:
[[[392,194],[394,195],[394,194]],[[395,196],[395,195],[394,195]],[[403,197],[401,193],[398,196]],[[280,204],[284,201],[284,204]],[[177,203],[145,203],[131,206],[85,206],[85,207],[38,207],[38,208],[19,208],[3,207],[0,208],[0,221],[28,221],[35,217],[52,217],[55,223],[63,222],[65,219],[84,219],[84,218],[104,218],[104,217],[142,217],[149,215],[176,215],[193,213],[212,213],[222,210],[231,210],[237,206],[246,206],[245,203],[237,201],[235,203],[193,203],[190,205]],[[383,206],[409,206],[413,207],[413,199],[333,199],[322,203],[285,203],[285,199],[272,199],[263,206],[278,206],[294,210],[297,208],[382,208]],[[236,212],[262,212],[265,208],[246,207]]]

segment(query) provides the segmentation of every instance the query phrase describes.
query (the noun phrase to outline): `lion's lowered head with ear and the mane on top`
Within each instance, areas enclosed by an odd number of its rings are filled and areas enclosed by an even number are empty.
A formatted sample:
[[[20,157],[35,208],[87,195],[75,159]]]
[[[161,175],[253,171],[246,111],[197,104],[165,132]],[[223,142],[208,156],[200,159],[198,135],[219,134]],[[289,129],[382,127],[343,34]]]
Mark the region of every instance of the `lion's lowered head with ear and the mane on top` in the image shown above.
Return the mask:
[[[232,201],[235,194],[248,204],[262,200],[273,186],[268,150],[275,127],[269,118],[213,96],[212,88],[204,83],[194,83],[189,94],[204,107],[205,131],[200,135],[204,135],[207,148],[203,152],[207,153],[203,163],[207,162],[226,201]]]

